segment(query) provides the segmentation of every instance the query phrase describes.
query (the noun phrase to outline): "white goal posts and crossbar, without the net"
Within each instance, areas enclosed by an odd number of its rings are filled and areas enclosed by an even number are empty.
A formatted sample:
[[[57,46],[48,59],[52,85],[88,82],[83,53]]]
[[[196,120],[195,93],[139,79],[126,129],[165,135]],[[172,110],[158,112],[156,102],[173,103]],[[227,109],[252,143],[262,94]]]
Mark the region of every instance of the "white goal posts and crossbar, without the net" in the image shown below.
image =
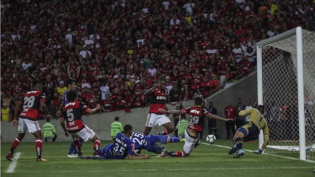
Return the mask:
[[[257,52],[257,101],[258,104],[263,104],[263,77],[262,77],[262,46],[272,42],[279,41],[286,37],[296,35],[296,59],[297,59],[297,93],[298,93],[298,118],[299,118],[299,147],[300,160],[306,160],[306,142],[305,142],[305,115],[304,115],[304,80],[303,80],[303,38],[302,28],[297,27],[290,29],[276,36],[259,41],[256,43]],[[259,134],[259,147],[262,147],[264,142],[262,130]],[[264,153],[264,152],[263,152]]]

